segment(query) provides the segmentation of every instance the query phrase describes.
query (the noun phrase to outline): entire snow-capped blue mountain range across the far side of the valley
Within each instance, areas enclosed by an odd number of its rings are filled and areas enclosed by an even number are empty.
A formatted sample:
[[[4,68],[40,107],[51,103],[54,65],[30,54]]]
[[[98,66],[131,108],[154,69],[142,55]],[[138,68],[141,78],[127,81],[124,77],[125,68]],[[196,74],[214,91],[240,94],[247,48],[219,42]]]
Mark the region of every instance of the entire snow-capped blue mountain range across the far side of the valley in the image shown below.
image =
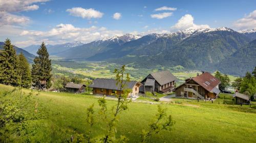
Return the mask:
[[[125,34],[85,44],[75,42],[78,44],[66,43],[47,47],[50,55],[59,56],[63,60],[132,63],[144,68],[181,65],[186,69],[218,69],[224,73],[243,75],[256,66],[252,55],[246,57],[249,54],[246,52],[249,51],[255,55],[251,48],[254,45],[250,43],[255,39],[256,30],[237,32],[220,27],[145,36]],[[24,49],[31,53],[37,50],[33,46]],[[239,67],[243,67],[243,61],[247,61],[248,66],[239,70]],[[231,70],[234,69],[231,65],[236,65],[238,70]]]

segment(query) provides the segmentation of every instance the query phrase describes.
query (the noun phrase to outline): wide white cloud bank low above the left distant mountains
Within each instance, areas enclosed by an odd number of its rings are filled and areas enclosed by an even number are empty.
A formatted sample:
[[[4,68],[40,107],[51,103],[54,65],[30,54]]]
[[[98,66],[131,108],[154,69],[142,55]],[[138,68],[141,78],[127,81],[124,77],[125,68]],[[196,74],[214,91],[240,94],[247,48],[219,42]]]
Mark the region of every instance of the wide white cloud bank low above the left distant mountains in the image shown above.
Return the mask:
[[[75,27],[72,24],[61,23],[49,31],[24,30],[20,32],[19,35],[27,37],[27,39],[23,41],[15,41],[14,43],[17,44],[17,46],[25,47],[31,44],[40,44],[42,41],[45,41],[48,44],[61,44],[73,41],[91,42],[121,34],[123,34],[122,31],[111,31],[106,27],[91,26],[80,28]]]

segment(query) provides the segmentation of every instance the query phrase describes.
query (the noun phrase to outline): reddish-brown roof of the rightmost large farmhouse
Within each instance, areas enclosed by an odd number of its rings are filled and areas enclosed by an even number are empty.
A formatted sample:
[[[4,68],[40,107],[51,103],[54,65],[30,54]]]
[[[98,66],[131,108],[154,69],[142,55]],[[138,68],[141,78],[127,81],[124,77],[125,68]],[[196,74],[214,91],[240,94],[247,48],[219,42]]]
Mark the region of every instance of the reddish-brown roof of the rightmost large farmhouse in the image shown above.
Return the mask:
[[[193,77],[192,80],[196,81],[208,92],[213,92],[212,90],[217,92],[217,89],[214,89],[214,88],[221,83],[219,79],[217,79],[216,77],[214,77],[208,72],[205,72],[203,74],[200,74],[199,76]]]

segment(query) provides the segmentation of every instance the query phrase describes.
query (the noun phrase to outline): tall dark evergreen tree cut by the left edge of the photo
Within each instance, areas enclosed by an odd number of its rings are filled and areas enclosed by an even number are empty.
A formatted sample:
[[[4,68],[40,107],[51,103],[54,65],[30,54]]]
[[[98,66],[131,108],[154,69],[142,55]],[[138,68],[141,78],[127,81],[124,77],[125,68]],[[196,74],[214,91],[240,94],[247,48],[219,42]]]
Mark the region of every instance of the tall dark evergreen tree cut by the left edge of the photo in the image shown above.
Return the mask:
[[[6,39],[0,52],[0,82],[17,85],[17,56],[10,39]]]

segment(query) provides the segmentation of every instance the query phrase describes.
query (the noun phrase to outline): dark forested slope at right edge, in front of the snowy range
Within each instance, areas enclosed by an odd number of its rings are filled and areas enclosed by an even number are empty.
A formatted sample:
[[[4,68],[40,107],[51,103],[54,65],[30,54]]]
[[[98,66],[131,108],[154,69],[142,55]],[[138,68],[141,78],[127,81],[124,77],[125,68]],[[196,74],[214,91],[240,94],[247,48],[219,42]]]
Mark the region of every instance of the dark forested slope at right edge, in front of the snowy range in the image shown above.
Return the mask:
[[[223,73],[240,76],[245,75],[247,71],[251,72],[254,67],[256,67],[256,40],[216,65],[216,68]]]

